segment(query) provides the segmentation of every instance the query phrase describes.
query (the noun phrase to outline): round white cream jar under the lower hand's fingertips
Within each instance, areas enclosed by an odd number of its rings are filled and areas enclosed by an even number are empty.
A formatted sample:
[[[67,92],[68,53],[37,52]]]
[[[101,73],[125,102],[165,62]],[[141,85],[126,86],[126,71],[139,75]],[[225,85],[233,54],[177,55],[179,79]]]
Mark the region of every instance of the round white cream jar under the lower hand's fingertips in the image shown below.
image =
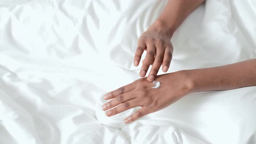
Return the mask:
[[[105,94],[104,94],[105,95]],[[126,111],[123,111],[117,115],[113,115],[111,117],[108,117],[105,115],[106,111],[102,110],[102,105],[107,103],[110,100],[105,100],[104,95],[100,97],[100,99],[97,101],[96,105],[96,117],[101,124],[109,126],[111,128],[123,128],[126,124],[124,123],[124,119],[128,116],[132,115],[135,111],[134,108],[128,109]]]

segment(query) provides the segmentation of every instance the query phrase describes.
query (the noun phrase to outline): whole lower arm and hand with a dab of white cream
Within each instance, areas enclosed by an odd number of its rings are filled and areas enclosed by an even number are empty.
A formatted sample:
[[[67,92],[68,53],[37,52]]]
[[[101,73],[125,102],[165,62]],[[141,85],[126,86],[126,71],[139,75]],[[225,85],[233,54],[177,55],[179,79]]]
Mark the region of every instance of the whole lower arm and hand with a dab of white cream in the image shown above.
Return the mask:
[[[113,99],[103,105],[102,109],[106,111],[107,116],[112,116],[140,106],[141,109],[135,114],[125,118],[125,123],[130,123],[144,115],[166,108],[193,92],[256,86],[256,59],[213,68],[158,75],[156,81],[161,82],[159,88],[152,88],[152,82],[142,78],[108,93],[105,99]],[[117,105],[119,106],[113,108]]]

